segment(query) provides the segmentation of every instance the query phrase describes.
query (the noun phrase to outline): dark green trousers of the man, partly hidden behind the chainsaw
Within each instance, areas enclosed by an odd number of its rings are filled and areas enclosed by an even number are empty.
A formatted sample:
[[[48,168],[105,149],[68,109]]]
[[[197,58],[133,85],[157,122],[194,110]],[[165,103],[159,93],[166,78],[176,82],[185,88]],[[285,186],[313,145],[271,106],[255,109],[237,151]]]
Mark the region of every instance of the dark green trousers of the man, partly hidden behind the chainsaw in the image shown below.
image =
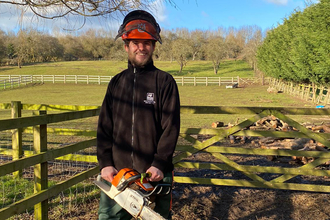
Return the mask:
[[[106,181],[105,181],[106,182]],[[106,182],[111,185],[111,183]],[[164,179],[159,183],[173,184],[173,173],[165,173]],[[172,208],[172,192],[168,195],[156,196],[154,211],[163,216],[165,219],[171,219]],[[115,200],[108,197],[101,191],[101,198],[98,212],[99,220],[130,220],[132,216],[116,203]]]

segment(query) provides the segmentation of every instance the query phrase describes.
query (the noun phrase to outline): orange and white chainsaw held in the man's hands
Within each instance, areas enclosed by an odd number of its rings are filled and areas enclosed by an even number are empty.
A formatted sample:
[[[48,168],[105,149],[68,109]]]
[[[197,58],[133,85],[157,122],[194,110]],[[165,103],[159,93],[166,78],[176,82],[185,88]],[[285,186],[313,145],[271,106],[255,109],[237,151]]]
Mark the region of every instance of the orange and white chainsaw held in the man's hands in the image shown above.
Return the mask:
[[[111,186],[103,181],[101,175],[98,175],[94,183],[135,219],[165,220],[153,210],[155,207],[153,198],[156,195],[169,194],[171,185],[153,186],[145,179],[146,177],[150,177],[149,173],[140,174],[133,169],[124,168],[114,177]]]

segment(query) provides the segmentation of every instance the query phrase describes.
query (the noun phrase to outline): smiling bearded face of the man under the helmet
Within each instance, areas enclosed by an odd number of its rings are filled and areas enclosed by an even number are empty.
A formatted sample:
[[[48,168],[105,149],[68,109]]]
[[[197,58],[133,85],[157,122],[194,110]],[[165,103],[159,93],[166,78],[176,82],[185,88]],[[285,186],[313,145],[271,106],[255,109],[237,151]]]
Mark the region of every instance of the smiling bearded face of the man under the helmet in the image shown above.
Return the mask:
[[[133,66],[144,67],[152,60],[155,46],[151,40],[130,40],[125,50]]]

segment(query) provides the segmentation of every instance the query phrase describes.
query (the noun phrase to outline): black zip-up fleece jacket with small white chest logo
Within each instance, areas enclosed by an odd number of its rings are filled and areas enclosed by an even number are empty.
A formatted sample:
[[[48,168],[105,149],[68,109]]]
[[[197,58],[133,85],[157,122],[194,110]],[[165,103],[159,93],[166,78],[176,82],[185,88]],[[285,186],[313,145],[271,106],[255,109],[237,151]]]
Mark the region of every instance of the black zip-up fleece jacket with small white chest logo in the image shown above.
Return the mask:
[[[153,62],[114,76],[107,88],[97,129],[100,169],[114,166],[145,172],[173,170],[180,130],[179,92],[173,77]]]

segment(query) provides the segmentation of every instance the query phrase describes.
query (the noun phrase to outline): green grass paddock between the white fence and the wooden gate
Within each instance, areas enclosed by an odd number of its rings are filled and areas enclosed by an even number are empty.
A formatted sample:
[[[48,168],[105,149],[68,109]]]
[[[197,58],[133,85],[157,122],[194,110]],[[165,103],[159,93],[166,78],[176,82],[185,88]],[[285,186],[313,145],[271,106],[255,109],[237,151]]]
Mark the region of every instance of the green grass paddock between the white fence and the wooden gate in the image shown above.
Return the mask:
[[[0,92],[0,103],[21,101],[27,104],[101,105],[106,85],[44,84]],[[225,86],[179,86],[181,105],[193,106],[282,106],[313,107],[286,94],[267,93],[267,86],[226,89]],[[25,113],[31,114],[31,113]],[[10,111],[0,111],[0,118]],[[243,120],[244,115],[182,115],[183,127],[210,127],[214,121]],[[72,122],[70,122],[72,123]],[[94,123],[94,122],[91,122]],[[95,125],[91,125],[92,129]],[[87,127],[88,126],[84,126]]]

